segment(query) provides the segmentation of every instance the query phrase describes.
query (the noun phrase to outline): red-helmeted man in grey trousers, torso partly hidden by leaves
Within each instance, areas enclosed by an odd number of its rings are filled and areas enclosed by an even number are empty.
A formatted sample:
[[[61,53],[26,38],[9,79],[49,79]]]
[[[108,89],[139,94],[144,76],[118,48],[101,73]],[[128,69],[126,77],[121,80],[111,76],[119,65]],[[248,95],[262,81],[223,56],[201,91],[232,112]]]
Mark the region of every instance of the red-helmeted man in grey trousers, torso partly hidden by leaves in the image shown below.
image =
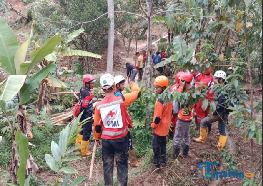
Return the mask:
[[[188,91],[191,92],[194,86],[191,85],[193,76],[190,73],[183,73],[180,76],[180,86],[177,91],[179,93]],[[189,145],[190,145],[190,123],[193,120],[193,107],[194,105],[184,104],[181,106],[176,123],[176,130],[174,134],[174,145],[173,145],[173,158],[177,158],[180,149],[181,141],[183,140],[183,156],[188,156]]]

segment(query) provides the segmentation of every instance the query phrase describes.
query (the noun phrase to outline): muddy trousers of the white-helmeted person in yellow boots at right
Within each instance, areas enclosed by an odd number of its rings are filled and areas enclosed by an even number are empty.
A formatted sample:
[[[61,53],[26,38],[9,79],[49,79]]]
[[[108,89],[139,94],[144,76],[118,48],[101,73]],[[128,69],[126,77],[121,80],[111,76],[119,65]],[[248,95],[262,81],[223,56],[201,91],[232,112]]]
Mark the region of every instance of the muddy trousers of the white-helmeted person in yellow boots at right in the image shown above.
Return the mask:
[[[223,120],[222,120],[222,119]],[[201,120],[201,128],[208,127],[211,125],[211,123],[218,121],[218,131],[220,135],[226,136],[226,123],[227,123],[228,114],[225,115],[213,115],[211,118],[210,115],[208,115],[206,118]]]

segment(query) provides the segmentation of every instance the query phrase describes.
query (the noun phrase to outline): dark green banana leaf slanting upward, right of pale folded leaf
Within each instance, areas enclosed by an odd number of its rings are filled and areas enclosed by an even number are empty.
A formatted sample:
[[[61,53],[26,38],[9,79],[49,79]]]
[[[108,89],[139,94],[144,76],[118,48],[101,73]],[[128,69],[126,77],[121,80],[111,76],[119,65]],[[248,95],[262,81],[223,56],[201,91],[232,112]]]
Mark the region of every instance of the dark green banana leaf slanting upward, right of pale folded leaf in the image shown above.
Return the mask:
[[[40,81],[45,79],[47,75],[49,74],[49,72],[54,69],[56,69],[56,65],[52,63],[46,66],[45,68],[43,68],[41,71],[39,71],[37,74],[35,74],[33,77],[31,77],[25,82],[24,86],[22,86],[22,88],[20,89],[19,105],[22,105],[26,103],[27,101],[29,101],[30,92],[33,89],[37,88],[39,86]]]

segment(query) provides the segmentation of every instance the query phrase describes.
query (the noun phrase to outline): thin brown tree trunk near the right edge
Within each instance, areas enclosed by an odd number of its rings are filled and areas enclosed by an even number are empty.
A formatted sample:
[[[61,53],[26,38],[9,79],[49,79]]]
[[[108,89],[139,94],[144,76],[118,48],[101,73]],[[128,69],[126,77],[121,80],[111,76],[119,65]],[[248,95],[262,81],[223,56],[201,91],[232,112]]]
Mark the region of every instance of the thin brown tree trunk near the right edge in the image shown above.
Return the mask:
[[[246,17],[245,17],[246,18]],[[246,19],[245,19],[246,20]],[[244,23],[244,34],[245,34],[245,42],[246,42],[246,53],[247,53],[247,69],[250,77],[250,119],[253,120],[253,81],[251,75],[251,64],[250,64],[250,56],[247,44],[247,33],[246,33],[246,22]],[[250,172],[253,172],[253,140],[250,141]]]

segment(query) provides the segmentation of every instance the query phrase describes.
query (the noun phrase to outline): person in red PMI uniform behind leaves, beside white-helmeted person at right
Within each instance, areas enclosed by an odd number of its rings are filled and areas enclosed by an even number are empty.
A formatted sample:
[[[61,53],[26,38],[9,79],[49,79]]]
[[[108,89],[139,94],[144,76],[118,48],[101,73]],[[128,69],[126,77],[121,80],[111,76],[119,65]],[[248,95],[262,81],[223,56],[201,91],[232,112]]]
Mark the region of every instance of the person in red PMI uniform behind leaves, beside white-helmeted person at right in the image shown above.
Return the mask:
[[[206,85],[208,86],[208,89],[206,90],[206,94],[207,94],[207,97],[205,98],[206,100],[213,100],[213,97],[214,97],[214,91],[213,91],[213,86],[215,84],[215,78],[212,76],[211,74],[212,72],[212,68],[210,68],[208,71],[203,71],[202,73],[202,76],[203,76],[203,79],[200,81],[203,85]],[[195,85],[196,87],[197,86],[200,86],[200,84],[197,84]],[[204,87],[201,87],[201,88],[204,88]],[[209,112],[209,107],[210,105],[208,105],[207,109],[204,111],[202,109],[202,102],[201,101],[198,101],[197,105],[195,106],[195,113],[196,113],[196,119],[197,119],[197,122],[196,122],[196,136],[199,137],[200,135],[200,123],[201,123],[201,120],[204,119],[205,117],[207,117],[208,115],[208,112]],[[209,124],[207,125],[208,126],[208,135],[210,135],[211,133],[211,127],[212,127],[212,124]]]

